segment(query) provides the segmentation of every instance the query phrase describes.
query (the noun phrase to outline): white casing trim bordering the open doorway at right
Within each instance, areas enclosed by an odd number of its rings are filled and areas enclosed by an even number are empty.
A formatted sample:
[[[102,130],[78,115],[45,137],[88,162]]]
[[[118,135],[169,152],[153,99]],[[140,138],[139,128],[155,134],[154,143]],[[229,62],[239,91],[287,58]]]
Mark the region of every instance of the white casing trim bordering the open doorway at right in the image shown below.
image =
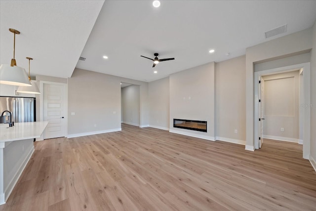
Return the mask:
[[[254,139],[254,148],[259,149],[259,115],[258,115],[258,78],[259,76],[264,76],[264,75],[270,75],[274,73],[285,73],[285,72],[290,72],[290,71],[295,71],[295,70],[300,70],[303,68],[304,70],[304,104],[310,105],[311,104],[311,71],[310,71],[310,62],[307,63],[302,63],[302,64],[296,64],[296,65],[290,65],[290,66],[285,66],[285,67],[279,67],[275,69],[270,69],[270,70],[263,70],[263,71],[258,71],[254,72],[254,77],[253,77],[253,90],[254,90],[254,104],[253,104],[253,109],[254,109],[254,114],[253,114],[253,139]],[[300,102],[301,103],[301,102]],[[304,144],[303,144],[303,158],[308,159],[310,157],[310,149],[311,149],[311,108],[306,107],[304,109],[304,123],[303,123],[303,136],[304,137]],[[301,135],[300,135],[301,137]]]

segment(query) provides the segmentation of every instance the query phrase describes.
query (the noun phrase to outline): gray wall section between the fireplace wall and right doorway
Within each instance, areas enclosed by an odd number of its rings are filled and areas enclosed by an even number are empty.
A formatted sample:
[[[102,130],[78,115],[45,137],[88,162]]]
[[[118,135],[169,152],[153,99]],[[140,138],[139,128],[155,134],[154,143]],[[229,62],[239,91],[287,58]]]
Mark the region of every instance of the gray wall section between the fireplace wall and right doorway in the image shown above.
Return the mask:
[[[245,144],[245,75],[245,56],[216,63],[216,135],[218,140]]]

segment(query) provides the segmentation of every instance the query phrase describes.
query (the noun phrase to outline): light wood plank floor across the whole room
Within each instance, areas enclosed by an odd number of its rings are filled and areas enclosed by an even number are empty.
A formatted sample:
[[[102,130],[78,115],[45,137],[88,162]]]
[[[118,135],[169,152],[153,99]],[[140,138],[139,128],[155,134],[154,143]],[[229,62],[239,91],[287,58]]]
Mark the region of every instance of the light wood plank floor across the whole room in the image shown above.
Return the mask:
[[[311,211],[316,172],[302,146],[244,146],[122,125],[35,143],[0,211]]]

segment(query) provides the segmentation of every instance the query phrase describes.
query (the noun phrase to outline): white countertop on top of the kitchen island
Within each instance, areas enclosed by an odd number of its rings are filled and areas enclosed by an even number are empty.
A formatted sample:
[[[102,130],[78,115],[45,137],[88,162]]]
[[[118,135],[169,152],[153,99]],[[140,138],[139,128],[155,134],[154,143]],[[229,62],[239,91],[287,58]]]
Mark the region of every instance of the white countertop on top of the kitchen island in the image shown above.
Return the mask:
[[[39,138],[48,122],[0,124],[0,142]]]

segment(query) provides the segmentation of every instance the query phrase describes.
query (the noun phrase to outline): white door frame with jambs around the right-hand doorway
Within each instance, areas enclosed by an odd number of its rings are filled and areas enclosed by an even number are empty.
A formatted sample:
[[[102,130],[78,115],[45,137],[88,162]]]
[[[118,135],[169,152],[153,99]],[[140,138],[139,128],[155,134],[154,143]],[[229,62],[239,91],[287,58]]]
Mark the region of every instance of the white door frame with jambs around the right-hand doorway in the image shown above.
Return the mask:
[[[309,105],[310,104],[310,63],[303,63],[298,65],[291,65],[281,68],[275,68],[270,70],[264,70],[255,72],[254,77],[254,137],[255,137],[255,149],[259,149],[259,77],[265,75],[271,75],[276,73],[285,73],[291,72],[295,70],[300,70],[303,73],[303,82],[302,89],[304,90],[302,96],[300,96],[299,107],[301,105]],[[309,159],[310,156],[310,107],[304,107],[304,109],[300,109],[301,118],[301,127],[300,128],[300,139],[303,140],[303,158]]]

